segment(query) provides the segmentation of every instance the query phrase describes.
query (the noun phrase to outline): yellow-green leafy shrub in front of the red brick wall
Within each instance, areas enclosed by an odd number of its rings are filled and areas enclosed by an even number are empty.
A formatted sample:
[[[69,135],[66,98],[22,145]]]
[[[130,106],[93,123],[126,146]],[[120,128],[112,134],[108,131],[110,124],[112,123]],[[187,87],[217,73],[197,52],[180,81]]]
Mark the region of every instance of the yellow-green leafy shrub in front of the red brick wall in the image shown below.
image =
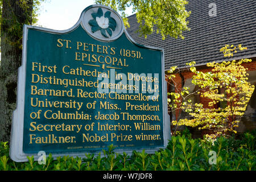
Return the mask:
[[[246,49],[241,44],[238,49]],[[232,57],[233,52],[237,52],[237,47],[226,45],[220,49],[224,57]],[[181,118],[179,121],[173,121],[174,125],[185,125],[199,127],[199,129],[209,129],[214,132],[209,137],[216,138],[218,135],[236,133],[235,127],[245,113],[251,94],[254,91],[254,85],[248,82],[246,69],[242,63],[250,62],[250,59],[241,59],[239,61],[223,61],[222,63],[208,63],[207,67],[212,67],[210,72],[199,72],[193,67],[194,63],[189,63],[189,68],[195,75],[192,77],[192,84],[199,86],[197,94],[205,97],[210,102],[208,105],[188,104],[181,105],[180,109],[185,109],[191,115],[191,118]],[[174,71],[171,68],[172,72]],[[175,93],[175,98],[182,96],[182,93]],[[181,101],[179,101],[181,102]],[[214,108],[214,105],[221,103],[221,106]],[[172,106],[176,107],[176,106]]]

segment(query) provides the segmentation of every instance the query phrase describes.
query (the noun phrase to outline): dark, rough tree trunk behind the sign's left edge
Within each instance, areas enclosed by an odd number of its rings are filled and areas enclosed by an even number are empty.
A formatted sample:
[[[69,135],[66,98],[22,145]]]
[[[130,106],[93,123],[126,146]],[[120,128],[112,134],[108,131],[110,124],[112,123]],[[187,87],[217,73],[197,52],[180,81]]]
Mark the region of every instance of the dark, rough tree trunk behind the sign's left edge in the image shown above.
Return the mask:
[[[0,141],[9,141],[16,107],[18,68],[22,63],[23,24],[32,22],[33,1],[3,0],[0,65]]]

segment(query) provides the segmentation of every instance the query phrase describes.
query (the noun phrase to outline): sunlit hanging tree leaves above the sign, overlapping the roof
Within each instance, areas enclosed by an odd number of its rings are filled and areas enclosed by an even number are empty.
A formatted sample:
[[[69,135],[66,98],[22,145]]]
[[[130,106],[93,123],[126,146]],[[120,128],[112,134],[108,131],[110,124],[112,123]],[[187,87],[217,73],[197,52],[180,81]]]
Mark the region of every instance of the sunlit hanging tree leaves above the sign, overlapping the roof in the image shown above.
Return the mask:
[[[188,2],[184,0],[96,0],[96,3],[119,11],[126,27],[129,27],[129,23],[125,10],[132,7],[133,12],[137,13],[139,32],[145,38],[154,31],[157,34],[160,33],[162,39],[168,35],[174,38],[184,38],[182,32],[189,30],[186,18],[190,12],[185,10]]]

